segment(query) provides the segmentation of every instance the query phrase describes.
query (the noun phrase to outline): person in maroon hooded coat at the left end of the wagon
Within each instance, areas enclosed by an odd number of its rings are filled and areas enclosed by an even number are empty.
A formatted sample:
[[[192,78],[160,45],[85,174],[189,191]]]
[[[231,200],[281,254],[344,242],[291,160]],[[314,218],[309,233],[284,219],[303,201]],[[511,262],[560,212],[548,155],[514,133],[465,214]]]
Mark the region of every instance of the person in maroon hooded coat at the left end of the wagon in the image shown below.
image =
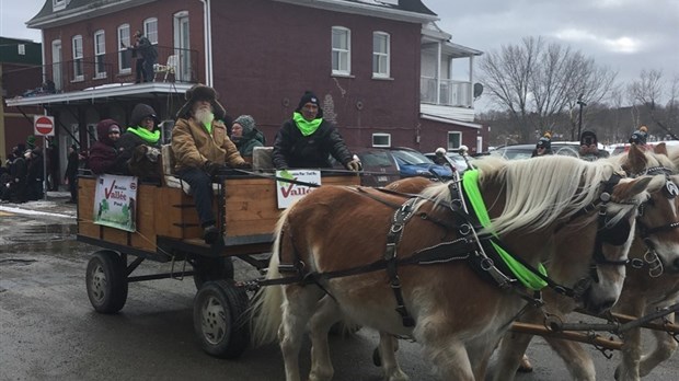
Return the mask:
[[[94,174],[124,173],[125,168],[118,159],[115,142],[120,137],[120,124],[114,119],[103,119],[96,124],[99,139],[90,148],[88,166]]]

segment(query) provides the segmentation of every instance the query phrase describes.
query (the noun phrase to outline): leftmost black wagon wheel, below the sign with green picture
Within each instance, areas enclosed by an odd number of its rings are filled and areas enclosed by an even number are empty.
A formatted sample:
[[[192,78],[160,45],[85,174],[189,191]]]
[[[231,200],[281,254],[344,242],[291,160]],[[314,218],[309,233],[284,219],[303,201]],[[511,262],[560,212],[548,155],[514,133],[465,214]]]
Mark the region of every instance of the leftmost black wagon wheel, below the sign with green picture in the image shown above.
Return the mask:
[[[100,313],[115,313],[127,300],[127,264],[113,251],[94,253],[85,276],[88,297]]]

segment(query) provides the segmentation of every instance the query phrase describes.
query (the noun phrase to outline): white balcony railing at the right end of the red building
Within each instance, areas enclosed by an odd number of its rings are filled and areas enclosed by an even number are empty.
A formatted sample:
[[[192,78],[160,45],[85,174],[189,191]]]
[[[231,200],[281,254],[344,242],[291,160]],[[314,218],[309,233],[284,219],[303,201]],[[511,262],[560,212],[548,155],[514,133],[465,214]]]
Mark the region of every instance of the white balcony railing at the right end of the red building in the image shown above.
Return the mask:
[[[430,77],[422,77],[419,80],[419,101],[422,103],[438,104],[453,107],[472,107],[471,82],[440,80],[440,99],[437,99],[436,84],[438,80]]]

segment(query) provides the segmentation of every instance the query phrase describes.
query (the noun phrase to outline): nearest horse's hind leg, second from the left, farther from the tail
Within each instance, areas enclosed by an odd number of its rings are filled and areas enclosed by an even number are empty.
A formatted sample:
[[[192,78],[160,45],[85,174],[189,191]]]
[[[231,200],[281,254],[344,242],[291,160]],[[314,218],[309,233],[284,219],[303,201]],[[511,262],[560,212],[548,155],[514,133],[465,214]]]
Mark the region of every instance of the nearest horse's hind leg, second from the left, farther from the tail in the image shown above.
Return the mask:
[[[330,359],[327,332],[330,327],[342,320],[342,311],[337,303],[329,296],[318,303],[318,310],[309,322],[311,338],[311,372],[309,381],[330,380],[334,369]]]

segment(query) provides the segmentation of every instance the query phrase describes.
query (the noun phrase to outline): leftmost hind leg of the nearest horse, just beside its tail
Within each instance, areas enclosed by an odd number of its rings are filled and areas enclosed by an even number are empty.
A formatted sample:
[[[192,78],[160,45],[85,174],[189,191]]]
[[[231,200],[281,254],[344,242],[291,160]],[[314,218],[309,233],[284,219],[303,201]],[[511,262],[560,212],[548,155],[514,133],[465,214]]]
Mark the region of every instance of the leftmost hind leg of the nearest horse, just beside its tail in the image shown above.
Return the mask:
[[[285,363],[287,381],[299,381],[299,349],[307,323],[313,315],[323,291],[314,286],[285,286],[283,323],[278,330],[278,340]]]

